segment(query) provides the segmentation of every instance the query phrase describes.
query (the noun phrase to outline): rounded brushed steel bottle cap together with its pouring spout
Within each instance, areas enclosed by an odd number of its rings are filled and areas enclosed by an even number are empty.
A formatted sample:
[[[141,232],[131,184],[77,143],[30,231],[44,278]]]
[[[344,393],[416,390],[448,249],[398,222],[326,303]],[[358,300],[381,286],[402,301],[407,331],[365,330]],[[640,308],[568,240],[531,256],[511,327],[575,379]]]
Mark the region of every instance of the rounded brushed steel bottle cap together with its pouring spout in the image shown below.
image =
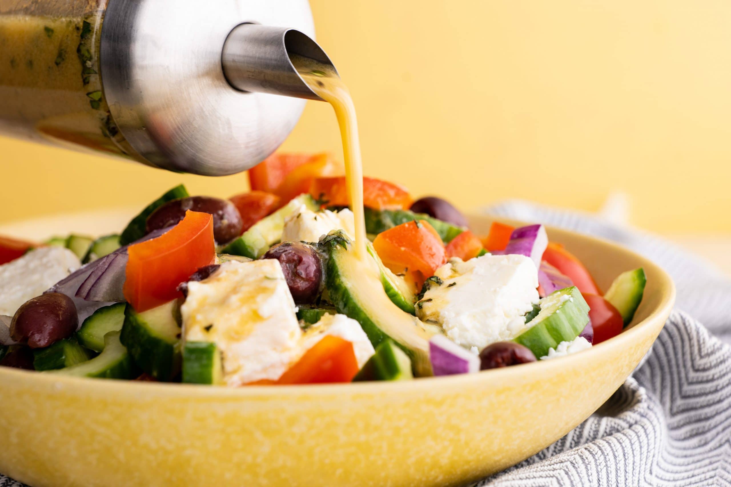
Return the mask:
[[[213,176],[259,164],[319,99],[289,62],[330,64],[313,36],[306,0],[110,0],[102,80],[130,156]]]

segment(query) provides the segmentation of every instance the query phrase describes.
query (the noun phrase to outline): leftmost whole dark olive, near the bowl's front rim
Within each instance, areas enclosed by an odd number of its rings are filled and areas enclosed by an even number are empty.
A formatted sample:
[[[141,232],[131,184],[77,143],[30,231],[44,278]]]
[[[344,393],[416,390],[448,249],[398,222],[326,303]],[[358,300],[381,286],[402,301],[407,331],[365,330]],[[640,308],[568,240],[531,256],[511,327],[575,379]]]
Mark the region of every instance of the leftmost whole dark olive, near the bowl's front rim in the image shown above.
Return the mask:
[[[79,324],[76,305],[61,293],[41,294],[15,312],[10,323],[12,340],[30,348],[45,348],[70,337]]]

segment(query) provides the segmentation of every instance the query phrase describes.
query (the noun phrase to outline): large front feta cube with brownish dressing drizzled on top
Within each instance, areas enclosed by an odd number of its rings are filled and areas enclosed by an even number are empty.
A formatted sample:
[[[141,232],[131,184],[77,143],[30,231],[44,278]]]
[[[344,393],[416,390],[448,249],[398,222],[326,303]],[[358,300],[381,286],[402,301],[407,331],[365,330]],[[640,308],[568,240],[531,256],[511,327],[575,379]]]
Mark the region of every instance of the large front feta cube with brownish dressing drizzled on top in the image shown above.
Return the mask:
[[[227,386],[276,380],[300,355],[295,310],[279,261],[228,261],[188,283],[183,336],[216,343]]]

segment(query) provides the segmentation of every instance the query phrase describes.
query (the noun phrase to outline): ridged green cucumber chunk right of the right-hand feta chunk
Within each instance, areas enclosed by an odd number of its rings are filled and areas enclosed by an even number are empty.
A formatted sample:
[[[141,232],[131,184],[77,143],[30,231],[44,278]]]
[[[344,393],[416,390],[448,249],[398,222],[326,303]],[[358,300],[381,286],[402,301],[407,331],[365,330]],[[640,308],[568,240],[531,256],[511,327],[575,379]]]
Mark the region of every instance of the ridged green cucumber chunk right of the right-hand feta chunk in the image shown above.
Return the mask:
[[[537,357],[547,356],[561,342],[579,336],[589,322],[589,307],[576,286],[561,289],[541,299],[538,315],[512,341],[531,349]]]

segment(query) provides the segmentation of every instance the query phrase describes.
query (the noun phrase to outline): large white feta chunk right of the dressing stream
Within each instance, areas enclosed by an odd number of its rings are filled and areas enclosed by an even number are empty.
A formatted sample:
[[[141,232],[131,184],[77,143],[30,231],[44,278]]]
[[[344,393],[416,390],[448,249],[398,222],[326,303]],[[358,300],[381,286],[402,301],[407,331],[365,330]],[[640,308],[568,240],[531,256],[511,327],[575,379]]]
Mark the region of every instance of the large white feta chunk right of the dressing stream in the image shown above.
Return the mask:
[[[417,304],[417,315],[437,323],[466,348],[515,337],[538,301],[538,272],[529,257],[485,255],[450,259],[436,270],[433,285]]]

